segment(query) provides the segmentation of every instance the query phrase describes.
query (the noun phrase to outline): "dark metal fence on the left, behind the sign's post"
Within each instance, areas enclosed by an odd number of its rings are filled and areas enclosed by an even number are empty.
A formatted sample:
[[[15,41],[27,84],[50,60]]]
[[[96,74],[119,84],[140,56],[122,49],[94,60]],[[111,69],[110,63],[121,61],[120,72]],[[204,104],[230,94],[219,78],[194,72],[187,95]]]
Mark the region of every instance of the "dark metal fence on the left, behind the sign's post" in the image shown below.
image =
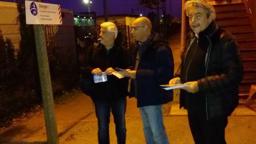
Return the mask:
[[[46,25],[44,30],[56,96],[74,88],[79,78],[74,27]],[[0,122],[41,100],[33,27],[0,24]]]

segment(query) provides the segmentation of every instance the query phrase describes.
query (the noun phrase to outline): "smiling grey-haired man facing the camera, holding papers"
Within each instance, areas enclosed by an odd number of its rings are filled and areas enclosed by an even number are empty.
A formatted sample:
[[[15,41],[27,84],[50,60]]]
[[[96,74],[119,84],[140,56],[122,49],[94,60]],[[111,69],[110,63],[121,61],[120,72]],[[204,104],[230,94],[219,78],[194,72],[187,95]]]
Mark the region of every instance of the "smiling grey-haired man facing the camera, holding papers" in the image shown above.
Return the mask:
[[[226,144],[227,117],[238,106],[243,79],[238,45],[232,34],[218,28],[214,7],[206,1],[188,0],[184,10],[193,32],[169,83],[190,85],[180,92],[180,107],[188,109],[195,143]]]

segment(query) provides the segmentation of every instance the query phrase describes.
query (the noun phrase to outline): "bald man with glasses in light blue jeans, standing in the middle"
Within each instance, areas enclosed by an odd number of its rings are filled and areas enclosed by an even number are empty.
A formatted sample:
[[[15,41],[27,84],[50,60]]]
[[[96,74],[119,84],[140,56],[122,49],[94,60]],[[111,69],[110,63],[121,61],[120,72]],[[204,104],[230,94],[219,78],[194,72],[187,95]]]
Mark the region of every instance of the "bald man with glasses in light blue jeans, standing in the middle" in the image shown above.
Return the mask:
[[[130,96],[137,99],[147,144],[169,144],[163,124],[162,104],[173,99],[172,90],[163,90],[173,76],[172,50],[162,34],[151,31],[148,18],[137,18],[132,24],[136,48],[133,65],[122,72],[132,78]]]

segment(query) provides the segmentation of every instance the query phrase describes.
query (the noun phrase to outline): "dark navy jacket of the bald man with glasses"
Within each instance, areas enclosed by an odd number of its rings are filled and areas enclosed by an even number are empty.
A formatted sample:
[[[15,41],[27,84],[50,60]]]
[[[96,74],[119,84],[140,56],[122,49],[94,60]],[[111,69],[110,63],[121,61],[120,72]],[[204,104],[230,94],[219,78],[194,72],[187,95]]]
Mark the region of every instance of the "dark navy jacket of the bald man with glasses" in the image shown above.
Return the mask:
[[[152,32],[147,40],[146,49],[140,55],[136,72],[137,106],[165,104],[173,100],[172,90],[163,90],[159,85],[168,84],[172,79],[174,64],[172,50],[161,34]],[[137,44],[132,60],[134,69],[139,44]],[[134,82],[131,82],[130,96],[135,96]]]

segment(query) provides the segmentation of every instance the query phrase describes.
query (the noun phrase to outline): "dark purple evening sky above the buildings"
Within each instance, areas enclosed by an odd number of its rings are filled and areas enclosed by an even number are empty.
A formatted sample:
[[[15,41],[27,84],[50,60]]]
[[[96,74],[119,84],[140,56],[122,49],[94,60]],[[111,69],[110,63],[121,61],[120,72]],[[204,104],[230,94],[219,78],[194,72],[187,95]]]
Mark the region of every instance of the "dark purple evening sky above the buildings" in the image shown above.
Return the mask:
[[[2,0],[13,2],[14,0]],[[103,0],[91,0],[90,11],[96,12],[97,16],[103,15]],[[60,4],[62,8],[73,9],[74,12],[88,12],[88,6],[83,0],[41,0],[41,2]],[[171,4],[170,4],[171,3]],[[166,0],[166,13],[172,14],[174,17],[181,17],[182,0]],[[134,14],[143,14],[146,16],[148,12],[154,11],[144,6],[139,5],[139,0],[107,0],[108,14],[131,14],[134,9]],[[160,10],[160,14],[162,10]]]

